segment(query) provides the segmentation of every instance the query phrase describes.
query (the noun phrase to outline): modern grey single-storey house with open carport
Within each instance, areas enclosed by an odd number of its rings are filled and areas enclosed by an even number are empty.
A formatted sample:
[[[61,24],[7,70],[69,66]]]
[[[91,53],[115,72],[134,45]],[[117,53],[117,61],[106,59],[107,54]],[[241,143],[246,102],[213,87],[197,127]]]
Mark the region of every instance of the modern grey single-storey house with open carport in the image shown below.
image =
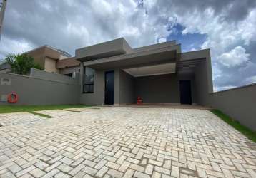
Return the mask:
[[[212,93],[210,50],[182,53],[176,41],[131,48],[124,38],[76,50],[80,103],[205,105]]]

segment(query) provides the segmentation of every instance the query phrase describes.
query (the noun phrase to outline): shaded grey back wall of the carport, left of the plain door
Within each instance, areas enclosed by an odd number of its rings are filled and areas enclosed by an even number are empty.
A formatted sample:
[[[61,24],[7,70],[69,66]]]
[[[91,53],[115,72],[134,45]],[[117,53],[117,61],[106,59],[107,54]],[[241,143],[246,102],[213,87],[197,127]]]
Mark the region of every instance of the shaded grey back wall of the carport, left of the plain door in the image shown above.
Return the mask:
[[[177,74],[135,78],[135,95],[144,103],[180,103]]]

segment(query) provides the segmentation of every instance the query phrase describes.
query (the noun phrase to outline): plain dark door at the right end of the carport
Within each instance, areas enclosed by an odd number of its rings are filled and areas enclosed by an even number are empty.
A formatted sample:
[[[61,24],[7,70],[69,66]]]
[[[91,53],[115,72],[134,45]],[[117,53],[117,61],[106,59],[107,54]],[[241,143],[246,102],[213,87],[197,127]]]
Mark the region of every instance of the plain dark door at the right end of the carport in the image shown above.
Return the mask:
[[[180,80],[179,81],[179,93],[180,93],[180,103],[191,105],[191,83],[190,80]]]

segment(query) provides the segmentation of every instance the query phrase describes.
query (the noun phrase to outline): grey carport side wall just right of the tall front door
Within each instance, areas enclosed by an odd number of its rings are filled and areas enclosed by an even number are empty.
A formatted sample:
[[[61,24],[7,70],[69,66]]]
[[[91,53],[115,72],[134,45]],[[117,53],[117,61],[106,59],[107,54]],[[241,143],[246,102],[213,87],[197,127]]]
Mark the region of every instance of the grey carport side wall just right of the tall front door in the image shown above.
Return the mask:
[[[129,104],[134,103],[136,100],[135,96],[135,85],[134,77],[124,72],[124,70],[119,71],[119,103]]]

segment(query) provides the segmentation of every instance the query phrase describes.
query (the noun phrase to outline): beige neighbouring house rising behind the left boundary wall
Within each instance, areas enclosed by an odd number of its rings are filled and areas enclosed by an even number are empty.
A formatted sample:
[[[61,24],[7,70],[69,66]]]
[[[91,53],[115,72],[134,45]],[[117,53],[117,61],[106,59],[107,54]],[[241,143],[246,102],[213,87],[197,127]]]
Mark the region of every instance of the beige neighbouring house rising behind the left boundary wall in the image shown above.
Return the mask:
[[[51,46],[41,46],[26,52],[39,63],[46,72],[60,73],[72,76],[74,72],[79,72],[80,62],[74,60],[71,55],[65,51],[58,50]]]

